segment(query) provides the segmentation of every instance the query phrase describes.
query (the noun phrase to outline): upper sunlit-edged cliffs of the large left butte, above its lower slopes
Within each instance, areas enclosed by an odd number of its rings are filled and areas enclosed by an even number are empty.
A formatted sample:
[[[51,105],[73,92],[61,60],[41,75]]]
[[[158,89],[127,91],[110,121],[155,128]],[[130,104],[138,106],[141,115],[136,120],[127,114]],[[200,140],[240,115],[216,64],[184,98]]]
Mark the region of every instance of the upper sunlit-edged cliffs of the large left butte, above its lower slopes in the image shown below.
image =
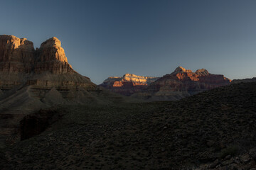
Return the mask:
[[[0,90],[18,85],[42,88],[95,88],[87,77],[75,72],[58,38],[50,38],[34,50],[33,42],[13,35],[0,35]]]

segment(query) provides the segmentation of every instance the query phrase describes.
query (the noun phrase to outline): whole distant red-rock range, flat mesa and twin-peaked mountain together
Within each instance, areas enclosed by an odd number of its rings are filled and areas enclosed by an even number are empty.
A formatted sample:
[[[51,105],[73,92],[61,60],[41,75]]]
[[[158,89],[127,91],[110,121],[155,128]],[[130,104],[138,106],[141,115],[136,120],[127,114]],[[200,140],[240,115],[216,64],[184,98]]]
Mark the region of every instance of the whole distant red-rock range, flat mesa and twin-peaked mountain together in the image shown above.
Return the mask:
[[[129,76],[132,75],[132,76]],[[201,91],[230,84],[231,80],[223,75],[210,74],[206,69],[192,72],[177,67],[171,74],[163,77],[140,77],[125,74],[123,77],[109,77],[100,86],[111,91],[150,101],[177,100]]]

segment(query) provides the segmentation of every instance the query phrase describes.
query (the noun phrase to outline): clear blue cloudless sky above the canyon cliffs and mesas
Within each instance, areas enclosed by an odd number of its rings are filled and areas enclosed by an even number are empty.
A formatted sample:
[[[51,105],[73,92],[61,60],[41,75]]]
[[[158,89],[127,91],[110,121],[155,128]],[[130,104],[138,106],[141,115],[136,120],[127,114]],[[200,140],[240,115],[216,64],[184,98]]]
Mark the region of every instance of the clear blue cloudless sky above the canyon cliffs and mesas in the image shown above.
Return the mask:
[[[57,37],[68,62],[96,84],[178,66],[256,77],[254,0],[1,1],[0,34],[39,47]]]

